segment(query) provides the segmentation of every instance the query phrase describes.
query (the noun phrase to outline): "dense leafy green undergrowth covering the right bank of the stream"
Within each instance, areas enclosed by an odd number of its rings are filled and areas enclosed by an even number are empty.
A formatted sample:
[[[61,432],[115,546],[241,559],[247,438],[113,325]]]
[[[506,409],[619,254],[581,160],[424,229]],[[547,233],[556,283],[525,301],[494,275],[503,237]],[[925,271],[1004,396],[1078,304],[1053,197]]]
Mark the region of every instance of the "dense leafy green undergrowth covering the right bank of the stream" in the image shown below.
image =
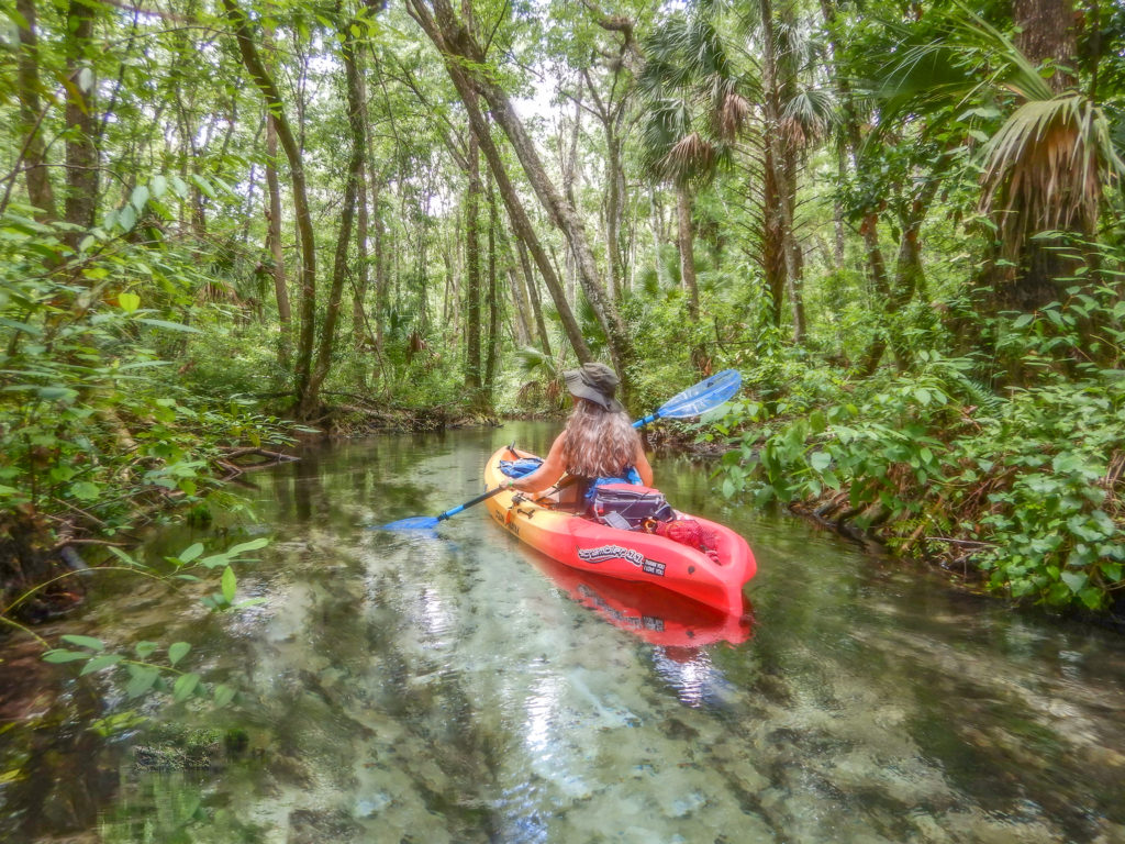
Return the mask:
[[[920,351],[868,379],[764,362],[747,374],[755,397],[717,425],[736,445],[723,494],[794,505],[1014,599],[1106,610],[1125,585],[1125,304],[1101,275],[1037,314],[982,320],[990,359]],[[1098,359],[1082,352],[1091,324]]]

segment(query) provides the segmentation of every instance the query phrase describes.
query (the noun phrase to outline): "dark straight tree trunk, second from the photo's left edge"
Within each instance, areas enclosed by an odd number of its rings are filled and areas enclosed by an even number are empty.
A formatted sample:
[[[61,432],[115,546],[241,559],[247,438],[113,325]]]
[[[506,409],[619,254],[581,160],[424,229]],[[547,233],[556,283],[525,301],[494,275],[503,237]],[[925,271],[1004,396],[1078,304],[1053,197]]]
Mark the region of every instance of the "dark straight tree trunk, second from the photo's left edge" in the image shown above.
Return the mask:
[[[91,228],[98,209],[97,120],[93,97],[97,83],[87,60],[93,37],[94,5],[70,0],[66,7],[66,222]],[[82,232],[69,232],[66,241],[76,246]]]

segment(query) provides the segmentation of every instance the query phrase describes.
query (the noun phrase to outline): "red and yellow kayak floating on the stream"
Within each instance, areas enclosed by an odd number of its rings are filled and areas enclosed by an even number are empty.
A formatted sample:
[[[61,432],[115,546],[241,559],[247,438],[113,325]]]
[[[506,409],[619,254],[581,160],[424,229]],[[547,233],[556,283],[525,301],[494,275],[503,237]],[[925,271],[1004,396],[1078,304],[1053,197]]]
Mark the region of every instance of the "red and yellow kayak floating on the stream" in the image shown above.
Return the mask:
[[[508,478],[502,460],[536,455],[505,446],[485,465],[488,490]],[[502,490],[486,501],[493,520],[521,542],[576,569],[636,583],[649,583],[721,612],[741,613],[742,586],[757,571],[749,545],[729,528],[676,511],[676,520],[691,520],[710,537],[714,559],[691,545],[642,530],[602,524],[566,506],[574,487],[537,499],[518,490]]]

